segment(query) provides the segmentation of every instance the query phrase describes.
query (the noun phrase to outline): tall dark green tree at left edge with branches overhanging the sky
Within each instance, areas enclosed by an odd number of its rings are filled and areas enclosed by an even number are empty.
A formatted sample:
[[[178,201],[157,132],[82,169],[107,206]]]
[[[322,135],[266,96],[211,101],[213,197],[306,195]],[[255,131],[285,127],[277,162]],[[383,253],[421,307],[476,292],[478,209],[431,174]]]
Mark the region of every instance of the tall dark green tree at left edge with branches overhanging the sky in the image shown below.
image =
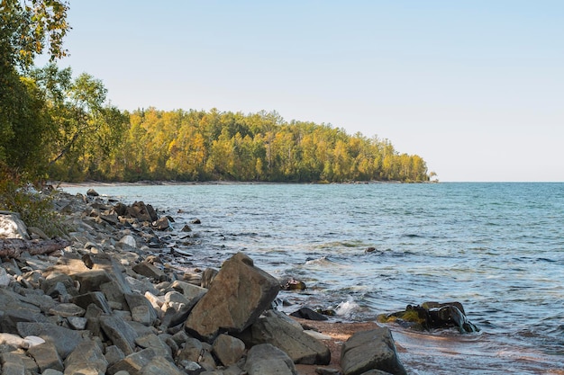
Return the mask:
[[[67,11],[67,2],[59,0],[0,2],[0,165],[14,171],[41,174],[50,122],[42,91],[22,72],[45,50],[51,60],[67,54]]]

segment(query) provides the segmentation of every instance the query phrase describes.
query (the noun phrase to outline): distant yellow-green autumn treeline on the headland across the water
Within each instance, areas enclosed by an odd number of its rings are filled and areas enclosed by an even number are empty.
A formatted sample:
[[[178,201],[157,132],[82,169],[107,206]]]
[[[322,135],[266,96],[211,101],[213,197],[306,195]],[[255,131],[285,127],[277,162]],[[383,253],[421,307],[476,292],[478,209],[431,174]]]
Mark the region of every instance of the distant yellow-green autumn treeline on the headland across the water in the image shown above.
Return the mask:
[[[128,115],[127,129],[108,157],[84,148],[74,160],[61,160],[51,175],[128,182],[429,180],[420,156],[399,154],[386,139],[350,136],[313,122],[287,122],[277,112],[150,108]]]

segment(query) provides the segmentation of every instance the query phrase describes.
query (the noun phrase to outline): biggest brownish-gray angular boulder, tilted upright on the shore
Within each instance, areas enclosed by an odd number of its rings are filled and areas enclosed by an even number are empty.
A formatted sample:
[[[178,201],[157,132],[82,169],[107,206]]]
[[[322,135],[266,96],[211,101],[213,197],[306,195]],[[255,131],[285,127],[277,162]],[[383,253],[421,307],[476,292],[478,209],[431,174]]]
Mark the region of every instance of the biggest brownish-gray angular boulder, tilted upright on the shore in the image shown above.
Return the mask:
[[[255,267],[249,256],[233,255],[223,263],[205,296],[186,319],[186,330],[211,341],[221,330],[240,333],[270,306],[279,282]]]

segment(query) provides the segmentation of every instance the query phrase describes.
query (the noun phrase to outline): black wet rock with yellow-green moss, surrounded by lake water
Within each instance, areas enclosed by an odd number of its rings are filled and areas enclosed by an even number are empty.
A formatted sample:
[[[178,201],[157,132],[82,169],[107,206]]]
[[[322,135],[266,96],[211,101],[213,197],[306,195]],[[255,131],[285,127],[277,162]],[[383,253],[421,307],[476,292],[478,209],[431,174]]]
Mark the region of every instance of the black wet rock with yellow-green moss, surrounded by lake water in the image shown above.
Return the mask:
[[[468,321],[459,302],[425,302],[422,306],[407,305],[405,311],[380,316],[381,322],[396,321],[401,326],[417,330],[456,327],[461,334],[478,332],[478,326]]]

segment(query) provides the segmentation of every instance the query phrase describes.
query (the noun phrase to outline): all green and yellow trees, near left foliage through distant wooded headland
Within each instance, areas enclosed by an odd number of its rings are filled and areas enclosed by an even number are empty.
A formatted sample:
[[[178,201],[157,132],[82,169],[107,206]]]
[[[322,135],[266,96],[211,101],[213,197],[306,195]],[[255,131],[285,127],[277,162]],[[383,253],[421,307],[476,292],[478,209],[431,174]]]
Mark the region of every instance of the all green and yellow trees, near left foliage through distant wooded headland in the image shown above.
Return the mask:
[[[122,111],[70,67],[68,3],[2,0],[0,176],[25,181],[426,182],[422,157],[387,139],[277,112]],[[46,67],[34,59],[48,54]],[[378,124],[376,124],[378,125]],[[17,176],[17,177],[14,177]]]

